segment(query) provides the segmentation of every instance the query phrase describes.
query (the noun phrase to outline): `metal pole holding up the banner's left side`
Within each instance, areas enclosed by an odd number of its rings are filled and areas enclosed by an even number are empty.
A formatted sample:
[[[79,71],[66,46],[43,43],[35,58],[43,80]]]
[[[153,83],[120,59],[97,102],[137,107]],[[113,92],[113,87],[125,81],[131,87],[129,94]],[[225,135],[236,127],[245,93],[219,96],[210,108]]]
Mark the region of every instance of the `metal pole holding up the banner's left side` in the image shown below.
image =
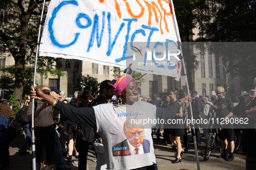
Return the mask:
[[[44,13],[44,8],[45,8],[45,0],[43,2],[43,6],[42,6],[42,13],[41,13],[38,37],[37,37],[37,42],[36,42],[36,60],[35,60],[33,85],[36,84],[37,56],[38,56],[38,51],[39,51],[42,17],[43,17],[43,13]],[[35,90],[35,88],[33,88],[33,90]],[[33,98],[32,99],[32,126],[31,126],[32,170],[36,170],[36,137],[35,137],[35,127],[34,127],[34,106],[35,106],[35,99]]]

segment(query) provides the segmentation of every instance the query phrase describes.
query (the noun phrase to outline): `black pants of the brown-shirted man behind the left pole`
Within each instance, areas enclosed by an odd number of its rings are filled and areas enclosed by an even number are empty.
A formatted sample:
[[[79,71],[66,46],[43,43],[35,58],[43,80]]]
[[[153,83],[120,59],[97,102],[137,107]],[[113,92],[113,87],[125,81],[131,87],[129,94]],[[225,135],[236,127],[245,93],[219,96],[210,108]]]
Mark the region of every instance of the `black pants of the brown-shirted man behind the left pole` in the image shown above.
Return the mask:
[[[40,163],[43,160],[43,148],[47,163],[54,163],[54,147],[55,147],[55,129],[53,126],[35,127],[36,136],[36,169],[39,170]]]

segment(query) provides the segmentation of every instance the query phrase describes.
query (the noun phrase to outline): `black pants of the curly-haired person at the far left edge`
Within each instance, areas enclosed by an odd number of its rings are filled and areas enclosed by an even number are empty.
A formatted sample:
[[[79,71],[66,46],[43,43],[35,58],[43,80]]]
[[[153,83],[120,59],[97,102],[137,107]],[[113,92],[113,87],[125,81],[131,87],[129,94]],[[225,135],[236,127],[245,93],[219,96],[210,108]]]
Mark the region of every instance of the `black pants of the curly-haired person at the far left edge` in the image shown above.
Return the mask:
[[[0,154],[0,163],[3,168],[10,166],[10,152],[9,152],[10,140],[6,139],[0,144],[1,154]]]

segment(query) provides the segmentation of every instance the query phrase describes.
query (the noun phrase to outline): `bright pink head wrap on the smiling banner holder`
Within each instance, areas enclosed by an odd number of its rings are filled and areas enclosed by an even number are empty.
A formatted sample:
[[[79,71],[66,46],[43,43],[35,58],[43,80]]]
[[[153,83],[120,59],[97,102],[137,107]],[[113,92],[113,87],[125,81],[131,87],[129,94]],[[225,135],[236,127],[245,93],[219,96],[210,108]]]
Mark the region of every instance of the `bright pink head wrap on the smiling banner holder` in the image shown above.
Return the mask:
[[[126,85],[128,85],[128,83],[130,83],[132,80],[134,79],[130,76],[118,76],[112,81],[108,82],[108,84],[112,86],[113,93],[118,97],[119,94],[126,88]]]

